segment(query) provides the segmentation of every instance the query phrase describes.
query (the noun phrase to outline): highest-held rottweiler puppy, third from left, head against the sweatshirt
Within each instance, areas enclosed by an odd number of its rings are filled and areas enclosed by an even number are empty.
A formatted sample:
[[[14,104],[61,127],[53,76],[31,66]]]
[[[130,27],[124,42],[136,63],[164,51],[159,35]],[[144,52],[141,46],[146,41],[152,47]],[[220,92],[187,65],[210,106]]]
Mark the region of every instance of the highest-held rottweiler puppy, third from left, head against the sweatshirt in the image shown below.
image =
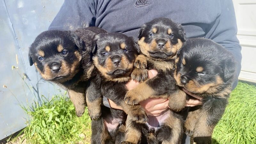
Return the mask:
[[[175,83],[173,72],[177,52],[186,41],[182,26],[167,18],[154,19],[142,26],[138,39],[141,54],[136,58],[134,66],[139,69],[156,69],[158,74],[128,91],[124,98],[125,102],[129,105],[137,105],[148,98],[171,98],[173,95],[179,95],[180,89]],[[137,78],[136,70],[138,69],[134,69],[132,78],[143,81]],[[157,127],[148,124],[149,133],[148,136],[146,135],[148,143],[181,143],[183,133],[181,117],[171,110],[165,112],[164,115],[163,119],[158,120]],[[136,139],[139,139],[138,136]]]

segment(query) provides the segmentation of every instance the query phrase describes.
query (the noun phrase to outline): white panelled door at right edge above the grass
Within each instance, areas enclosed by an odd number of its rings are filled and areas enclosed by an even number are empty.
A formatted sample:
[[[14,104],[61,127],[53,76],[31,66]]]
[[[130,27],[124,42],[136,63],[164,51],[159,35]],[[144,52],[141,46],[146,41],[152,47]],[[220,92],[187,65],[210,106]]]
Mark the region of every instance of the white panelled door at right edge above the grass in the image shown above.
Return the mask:
[[[239,79],[256,82],[256,0],[233,0],[233,3],[243,56]]]

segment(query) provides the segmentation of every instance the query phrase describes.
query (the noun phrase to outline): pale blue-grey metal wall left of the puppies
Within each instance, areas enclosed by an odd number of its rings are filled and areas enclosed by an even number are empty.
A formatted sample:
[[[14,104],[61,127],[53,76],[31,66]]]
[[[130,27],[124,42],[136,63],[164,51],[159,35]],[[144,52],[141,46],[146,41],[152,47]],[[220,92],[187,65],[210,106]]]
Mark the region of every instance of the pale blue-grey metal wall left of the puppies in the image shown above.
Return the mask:
[[[34,100],[40,101],[39,95],[51,98],[61,91],[42,80],[34,66],[29,66],[28,47],[38,34],[47,30],[63,2],[0,1],[0,140],[26,126],[27,116],[19,103],[28,107]]]

